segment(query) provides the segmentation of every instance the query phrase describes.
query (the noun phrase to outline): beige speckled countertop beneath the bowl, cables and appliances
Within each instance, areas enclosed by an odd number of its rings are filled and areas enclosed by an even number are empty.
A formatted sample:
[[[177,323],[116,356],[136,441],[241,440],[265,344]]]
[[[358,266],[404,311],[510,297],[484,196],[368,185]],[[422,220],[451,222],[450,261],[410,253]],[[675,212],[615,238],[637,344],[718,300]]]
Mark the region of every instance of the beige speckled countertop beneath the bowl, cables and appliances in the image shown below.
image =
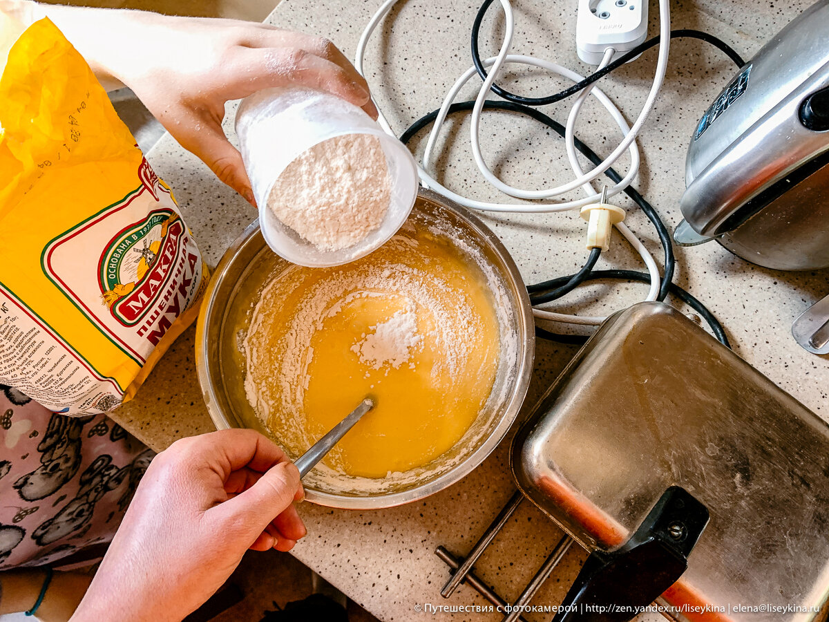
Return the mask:
[[[327,35],[347,56],[352,56],[363,25],[379,3],[285,0],[268,21],[280,27]],[[575,54],[574,0],[516,0],[514,4],[516,53],[558,61],[583,73],[589,71]],[[749,58],[762,41],[809,4],[808,0],[671,2],[672,26],[711,32]],[[468,37],[477,5],[478,2],[462,0],[400,2],[369,46],[368,80],[398,134],[421,114],[436,108],[448,86],[471,65]],[[500,32],[498,13],[493,7],[484,22],[484,54],[496,49]],[[654,34],[654,3],[651,15],[650,33]],[[605,92],[626,111],[628,119],[638,114],[655,62],[655,51],[649,51],[633,65],[601,82]],[[684,187],[688,139],[702,111],[733,74],[734,66],[714,48],[700,41],[671,43],[667,80],[640,139],[643,162],[635,184],[671,227],[680,219],[677,205]],[[561,85],[548,76],[527,76],[522,70],[512,76],[517,77],[521,78],[521,92],[532,95],[558,90]],[[503,84],[508,86],[512,81],[508,78]],[[471,91],[467,90],[466,95],[471,95]],[[234,109],[231,104],[225,120],[229,133]],[[548,114],[561,121],[568,109],[566,101],[546,107]],[[618,139],[606,116],[592,101],[584,106],[579,134],[600,153],[608,153]],[[443,181],[469,196],[499,198],[473,166],[468,151],[468,122],[453,119],[444,136],[448,137],[447,148],[439,161]],[[425,142],[420,138],[419,153]],[[488,115],[482,124],[482,146],[487,161],[497,166],[507,182],[545,187],[570,178],[562,141],[525,119],[508,114]],[[215,265],[225,248],[255,217],[254,211],[169,136],[148,153],[148,159],[172,186],[206,260]],[[627,199],[624,205],[631,209],[629,226],[660,257],[652,226],[633,210]],[[570,274],[584,260],[583,226],[575,214],[484,216],[484,220],[511,250],[527,282]],[[676,282],[720,318],[736,352],[829,419],[829,360],[802,350],[789,333],[798,313],[829,294],[827,271],[774,272],[749,265],[714,244],[677,249],[676,253]],[[622,242],[603,254],[599,265],[641,270],[638,258]],[[609,295],[599,295],[608,289],[612,289]],[[643,295],[642,285],[594,284],[568,300],[562,309],[607,314]],[[191,328],[179,338],[138,397],[114,413],[114,419],[153,448],[163,449],[179,437],[212,429],[196,381],[194,333]],[[574,352],[574,347],[539,343],[525,414]],[[439,589],[448,578],[448,571],[434,555],[434,548],[443,544],[455,554],[467,552],[512,490],[505,442],[466,479],[419,503],[374,512],[303,504],[301,512],[309,535],[296,547],[295,555],[381,620],[497,620],[495,614],[430,616],[416,613],[414,606],[484,603],[466,586],[448,601],[440,598]],[[478,574],[497,586],[508,600],[514,600],[560,535],[540,512],[523,503],[478,563]],[[534,602],[559,602],[583,558],[583,552],[571,550]]]

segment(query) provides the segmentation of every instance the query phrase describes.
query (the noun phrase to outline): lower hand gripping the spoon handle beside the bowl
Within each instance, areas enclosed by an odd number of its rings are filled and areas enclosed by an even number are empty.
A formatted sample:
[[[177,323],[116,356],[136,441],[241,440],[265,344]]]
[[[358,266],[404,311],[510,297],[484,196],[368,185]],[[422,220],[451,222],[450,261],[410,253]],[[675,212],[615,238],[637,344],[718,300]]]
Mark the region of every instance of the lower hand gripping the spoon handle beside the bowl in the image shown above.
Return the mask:
[[[249,548],[305,535],[299,471],[253,430],[178,440],[153,459],[72,620],[182,620]]]

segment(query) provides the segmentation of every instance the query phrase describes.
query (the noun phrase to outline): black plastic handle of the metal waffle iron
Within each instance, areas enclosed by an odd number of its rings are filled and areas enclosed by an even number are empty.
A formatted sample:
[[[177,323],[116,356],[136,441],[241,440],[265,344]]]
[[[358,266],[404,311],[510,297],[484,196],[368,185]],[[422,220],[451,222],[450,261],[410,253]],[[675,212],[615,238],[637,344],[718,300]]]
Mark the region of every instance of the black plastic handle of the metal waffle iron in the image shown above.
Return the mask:
[[[668,488],[623,547],[590,554],[553,622],[633,620],[686,571],[708,518],[684,488]]]

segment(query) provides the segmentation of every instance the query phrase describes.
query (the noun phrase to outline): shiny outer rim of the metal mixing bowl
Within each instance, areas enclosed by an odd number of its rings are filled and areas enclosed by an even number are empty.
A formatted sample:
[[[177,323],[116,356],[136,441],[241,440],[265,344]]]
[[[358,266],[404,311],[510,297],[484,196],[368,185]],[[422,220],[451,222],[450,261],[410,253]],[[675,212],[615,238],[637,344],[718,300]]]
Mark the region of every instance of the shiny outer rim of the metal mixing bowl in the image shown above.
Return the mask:
[[[392,508],[404,503],[411,503],[419,499],[429,497],[434,493],[448,488],[448,486],[457,483],[468,474],[472,473],[482,462],[487,459],[489,454],[501,444],[501,441],[507,436],[511,426],[515,423],[518,412],[521,410],[526,391],[530,385],[531,372],[533,362],[535,360],[535,323],[532,317],[532,307],[530,304],[530,296],[527,294],[524,280],[521,278],[521,273],[515,261],[512,259],[506,246],[502,241],[492,232],[492,230],[481,221],[478,216],[473,215],[471,211],[459,206],[450,199],[438,194],[437,192],[419,188],[419,198],[426,201],[436,203],[439,207],[454,212],[464,223],[473,231],[478,233],[488,245],[491,250],[497,255],[498,259],[502,261],[505,267],[504,277],[507,277],[507,289],[517,294],[518,305],[516,308],[516,329],[518,331],[518,343],[521,347],[521,357],[518,361],[518,366],[514,375],[517,377],[515,390],[512,391],[507,406],[503,409],[501,419],[492,430],[490,435],[475,449],[472,454],[469,454],[463,461],[457,464],[452,469],[449,469],[439,477],[429,481],[425,484],[419,484],[413,488],[406,490],[378,494],[375,496],[356,497],[347,495],[337,495],[333,493],[323,493],[312,488],[306,488],[305,500],[318,505],[326,506],[328,508],[344,508],[344,509],[381,509]],[[250,225],[245,227],[239,237],[225,250],[216,270],[213,270],[210,282],[201,302],[201,309],[199,311],[199,318],[196,324],[196,374],[201,386],[202,398],[205,401],[207,412],[211,416],[217,430],[226,430],[234,427],[230,420],[221,411],[219,401],[217,399],[216,388],[211,384],[211,367],[215,363],[209,361],[208,339],[211,335],[207,334],[206,325],[210,318],[213,309],[216,306],[216,293],[219,284],[225,279],[230,266],[235,260],[238,251],[250,241],[259,231],[259,219],[252,221]],[[500,270],[499,270],[500,271]],[[226,306],[223,305],[221,309],[216,309],[216,313],[224,313]]]

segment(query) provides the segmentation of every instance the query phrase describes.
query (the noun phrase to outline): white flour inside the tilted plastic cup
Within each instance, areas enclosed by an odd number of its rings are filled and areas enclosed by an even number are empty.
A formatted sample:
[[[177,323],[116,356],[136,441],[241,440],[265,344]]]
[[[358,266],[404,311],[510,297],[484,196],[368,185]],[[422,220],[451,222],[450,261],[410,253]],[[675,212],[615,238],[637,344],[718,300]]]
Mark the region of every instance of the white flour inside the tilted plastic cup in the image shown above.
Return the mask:
[[[314,145],[288,164],[271,189],[268,207],[313,245],[342,250],[381,226],[390,197],[380,140],[345,134]]]

